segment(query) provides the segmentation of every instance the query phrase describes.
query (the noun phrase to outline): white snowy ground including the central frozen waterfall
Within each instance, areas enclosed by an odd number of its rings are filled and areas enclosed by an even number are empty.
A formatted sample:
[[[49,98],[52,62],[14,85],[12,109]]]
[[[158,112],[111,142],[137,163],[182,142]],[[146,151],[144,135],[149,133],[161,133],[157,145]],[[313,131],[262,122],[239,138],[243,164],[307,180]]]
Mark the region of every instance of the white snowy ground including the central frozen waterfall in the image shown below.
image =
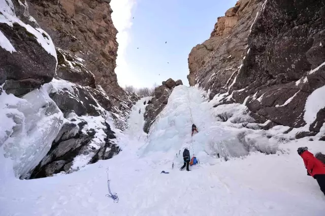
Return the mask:
[[[202,96],[176,87],[148,136],[142,128],[149,98],[139,100],[128,129],[117,132],[122,152],[71,174],[20,181],[0,149],[0,215],[324,215],[325,197],[296,151],[325,152],[322,141],[288,141],[279,127],[242,128],[243,107],[212,109]],[[233,120],[216,122],[222,115]],[[192,122],[199,128],[193,138]],[[179,170],[176,153],[184,147],[201,162],[190,172]],[[108,168],[118,203],[105,196]]]

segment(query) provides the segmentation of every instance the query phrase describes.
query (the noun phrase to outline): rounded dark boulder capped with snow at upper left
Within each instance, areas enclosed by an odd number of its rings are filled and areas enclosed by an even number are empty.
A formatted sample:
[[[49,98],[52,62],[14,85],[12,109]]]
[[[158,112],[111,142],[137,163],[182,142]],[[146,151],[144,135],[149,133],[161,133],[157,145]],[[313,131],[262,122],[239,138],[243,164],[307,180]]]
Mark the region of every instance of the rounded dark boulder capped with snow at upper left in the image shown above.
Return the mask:
[[[27,5],[13,2],[0,1],[0,85],[5,83],[7,93],[23,95],[52,80],[57,60],[49,35],[37,24],[32,27],[19,19],[28,20],[23,18],[29,14],[19,11]]]

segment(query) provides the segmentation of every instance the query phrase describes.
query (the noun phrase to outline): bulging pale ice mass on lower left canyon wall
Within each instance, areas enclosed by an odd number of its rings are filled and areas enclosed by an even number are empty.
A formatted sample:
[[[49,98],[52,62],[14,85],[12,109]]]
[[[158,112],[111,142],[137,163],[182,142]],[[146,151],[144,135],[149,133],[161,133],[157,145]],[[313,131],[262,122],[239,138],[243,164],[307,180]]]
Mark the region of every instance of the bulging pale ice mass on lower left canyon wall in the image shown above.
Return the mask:
[[[0,109],[0,147],[13,160],[16,177],[24,178],[50,150],[63,114],[45,87],[22,98],[2,92]]]

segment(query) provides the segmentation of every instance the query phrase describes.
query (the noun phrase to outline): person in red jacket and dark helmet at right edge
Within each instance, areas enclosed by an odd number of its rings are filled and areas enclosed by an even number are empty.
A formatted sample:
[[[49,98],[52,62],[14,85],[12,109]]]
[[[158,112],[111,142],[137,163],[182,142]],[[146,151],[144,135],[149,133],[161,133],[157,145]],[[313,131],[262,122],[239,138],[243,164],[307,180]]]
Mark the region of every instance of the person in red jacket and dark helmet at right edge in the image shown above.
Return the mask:
[[[298,148],[297,152],[304,160],[307,175],[311,175],[317,180],[320,190],[325,195],[325,164],[308,152],[307,147]]]

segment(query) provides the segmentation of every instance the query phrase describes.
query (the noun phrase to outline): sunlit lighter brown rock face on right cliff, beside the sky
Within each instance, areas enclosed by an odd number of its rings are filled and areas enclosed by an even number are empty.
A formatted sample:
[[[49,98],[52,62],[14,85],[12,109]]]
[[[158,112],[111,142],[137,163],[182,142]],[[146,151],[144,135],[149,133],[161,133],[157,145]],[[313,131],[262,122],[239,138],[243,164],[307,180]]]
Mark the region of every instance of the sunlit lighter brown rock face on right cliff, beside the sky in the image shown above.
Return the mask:
[[[198,81],[202,86],[209,86],[217,80],[213,87],[221,91],[222,87],[232,84],[247,51],[248,34],[261,2],[241,1],[237,3],[239,9],[234,16],[218,17],[210,39],[194,47],[189,54],[187,78],[191,86]]]

